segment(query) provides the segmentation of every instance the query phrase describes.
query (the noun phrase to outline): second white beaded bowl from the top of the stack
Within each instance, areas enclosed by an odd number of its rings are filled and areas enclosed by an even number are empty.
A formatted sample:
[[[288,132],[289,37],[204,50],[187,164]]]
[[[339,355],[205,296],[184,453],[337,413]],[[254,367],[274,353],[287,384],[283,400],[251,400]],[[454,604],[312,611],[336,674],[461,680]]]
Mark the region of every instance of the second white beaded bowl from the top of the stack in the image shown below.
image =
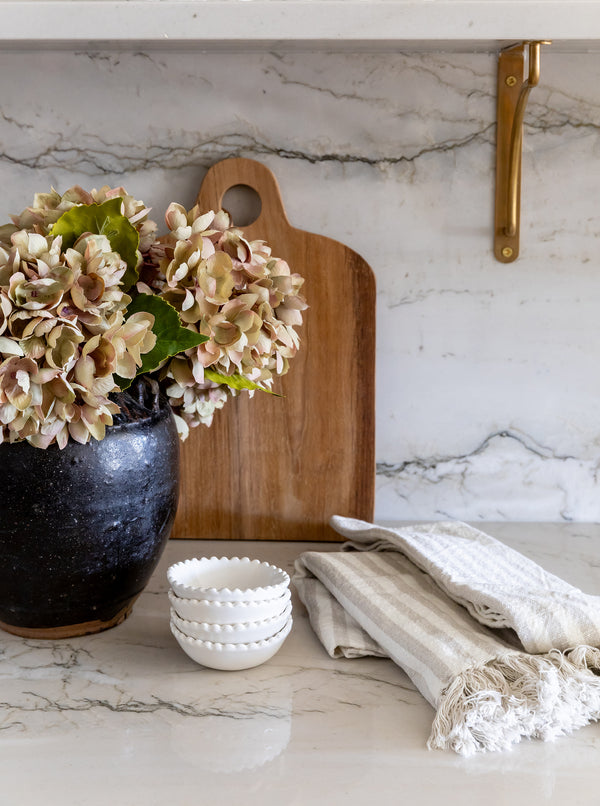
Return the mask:
[[[276,599],[258,602],[210,602],[206,599],[187,599],[168,591],[171,607],[180,618],[186,621],[206,624],[247,624],[250,621],[279,616],[288,606],[291,594],[289,589]]]

